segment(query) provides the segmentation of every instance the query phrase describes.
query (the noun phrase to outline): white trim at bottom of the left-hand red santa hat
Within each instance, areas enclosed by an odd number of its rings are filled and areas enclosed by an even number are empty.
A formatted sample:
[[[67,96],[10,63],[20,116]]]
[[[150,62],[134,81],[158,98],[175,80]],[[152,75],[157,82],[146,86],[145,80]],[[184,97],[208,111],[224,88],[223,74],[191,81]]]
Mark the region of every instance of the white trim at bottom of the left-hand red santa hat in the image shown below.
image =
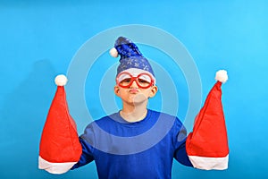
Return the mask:
[[[39,169],[46,170],[51,174],[64,174],[68,172],[72,166],[77,162],[64,162],[64,163],[52,163],[48,162],[45,159],[39,156],[38,158],[38,167]]]

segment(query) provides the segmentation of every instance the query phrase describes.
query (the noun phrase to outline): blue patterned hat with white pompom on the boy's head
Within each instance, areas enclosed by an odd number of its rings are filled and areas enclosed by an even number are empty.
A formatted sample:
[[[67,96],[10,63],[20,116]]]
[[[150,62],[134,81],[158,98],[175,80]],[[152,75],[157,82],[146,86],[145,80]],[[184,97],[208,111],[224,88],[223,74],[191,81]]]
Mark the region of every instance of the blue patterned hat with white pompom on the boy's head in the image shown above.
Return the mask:
[[[113,57],[117,57],[118,55],[121,56],[116,75],[120,72],[134,68],[150,72],[155,78],[155,73],[151,64],[149,64],[147,58],[140,53],[138,47],[129,38],[117,38],[114,47],[110,50],[110,54],[113,55]]]

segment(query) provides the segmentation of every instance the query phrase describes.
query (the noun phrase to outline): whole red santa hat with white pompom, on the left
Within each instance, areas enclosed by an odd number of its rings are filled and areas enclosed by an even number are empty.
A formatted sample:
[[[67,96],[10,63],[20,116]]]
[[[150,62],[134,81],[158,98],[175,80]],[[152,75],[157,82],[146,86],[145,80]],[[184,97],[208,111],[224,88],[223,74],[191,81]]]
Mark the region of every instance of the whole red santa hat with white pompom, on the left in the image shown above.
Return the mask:
[[[63,174],[79,161],[82,149],[66,101],[67,78],[61,74],[54,81],[57,90],[41,136],[38,167],[52,174]]]

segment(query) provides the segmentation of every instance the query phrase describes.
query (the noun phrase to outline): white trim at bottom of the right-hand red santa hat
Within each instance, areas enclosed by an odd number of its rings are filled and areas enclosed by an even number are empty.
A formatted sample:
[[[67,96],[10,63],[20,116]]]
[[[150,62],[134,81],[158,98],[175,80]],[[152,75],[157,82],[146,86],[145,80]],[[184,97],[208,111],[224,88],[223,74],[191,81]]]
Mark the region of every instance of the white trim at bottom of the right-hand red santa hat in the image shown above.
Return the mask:
[[[192,165],[198,169],[204,170],[225,170],[228,168],[229,155],[223,158],[205,158],[197,156],[188,156]]]

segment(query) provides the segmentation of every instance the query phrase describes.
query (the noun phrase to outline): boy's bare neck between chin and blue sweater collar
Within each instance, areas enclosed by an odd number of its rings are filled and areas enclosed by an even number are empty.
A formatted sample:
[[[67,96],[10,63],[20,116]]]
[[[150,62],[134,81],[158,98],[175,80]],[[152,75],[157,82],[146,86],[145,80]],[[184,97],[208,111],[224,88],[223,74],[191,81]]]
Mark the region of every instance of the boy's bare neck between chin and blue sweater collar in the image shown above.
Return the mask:
[[[120,115],[127,122],[138,122],[143,120],[147,116],[147,106],[123,107],[120,111]]]

